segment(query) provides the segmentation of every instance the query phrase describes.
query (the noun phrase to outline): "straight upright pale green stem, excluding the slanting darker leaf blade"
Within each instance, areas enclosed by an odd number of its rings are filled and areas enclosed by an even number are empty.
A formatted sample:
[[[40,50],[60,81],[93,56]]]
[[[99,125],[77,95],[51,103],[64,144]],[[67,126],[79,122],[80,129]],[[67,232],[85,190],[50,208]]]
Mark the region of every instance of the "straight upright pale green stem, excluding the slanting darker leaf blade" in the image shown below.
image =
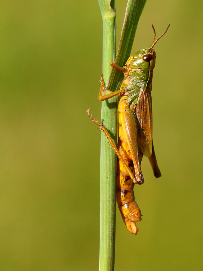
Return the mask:
[[[100,1],[103,19],[103,78],[108,84],[114,60],[115,11],[109,1]],[[106,84],[106,85],[107,85]],[[117,141],[117,97],[102,102],[101,121]],[[100,271],[114,270],[116,155],[101,132],[100,155]]]

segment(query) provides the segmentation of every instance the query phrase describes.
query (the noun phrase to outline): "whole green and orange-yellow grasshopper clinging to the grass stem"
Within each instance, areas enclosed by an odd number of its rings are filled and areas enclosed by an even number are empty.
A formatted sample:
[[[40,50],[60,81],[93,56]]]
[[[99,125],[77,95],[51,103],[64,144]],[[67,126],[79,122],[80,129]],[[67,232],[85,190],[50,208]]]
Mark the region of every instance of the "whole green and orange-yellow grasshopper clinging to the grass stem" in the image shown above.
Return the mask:
[[[116,200],[127,229],[135,235],[138,232],[136,222],[142,218],[140,208],[134,198],[133,188],[135,183],[142,184],[144,182],[140,166],[143,155],[149,157],[155,177],[161,177],[152,141],[151,90],[156,58],[155,51],[152,48],[167,32],[169,26],[170,24],[154,42],[156,33],[152,25],[154,30],[152,44],[149,48],[144,48],[131,55],[124,67],[119,67],[113,62],[110,63],[113,68],[123,72],[126,77],[118,91],[102,95],[104,80],[101,75],[99,100],[104,101],[119,95],[117,146],[103,124],[90,114],[90,109],[87,111],[91,120],[99,125],[100,130],[104,132],[118,156]]]

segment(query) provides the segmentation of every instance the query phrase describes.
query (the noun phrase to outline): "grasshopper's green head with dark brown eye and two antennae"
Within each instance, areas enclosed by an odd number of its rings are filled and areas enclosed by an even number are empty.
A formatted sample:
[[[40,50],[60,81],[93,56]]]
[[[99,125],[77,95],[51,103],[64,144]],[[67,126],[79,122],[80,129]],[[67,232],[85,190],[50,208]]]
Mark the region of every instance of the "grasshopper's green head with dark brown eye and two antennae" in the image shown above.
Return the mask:
[[[161,39],[162,36],[164,36],[169,26],[170,24],[167,26],[164,33],[154,42],[156,33],[152,24],[152,28],[154,30],[154,39],[152,41],[152,44],[149,46],[149,48],[139,50],[133,55],[131,55],[126,62],[126,67],[129,67],[131,69],[153,70],[155,66],[156,53],[152,48],[158,42],[158,40]]]

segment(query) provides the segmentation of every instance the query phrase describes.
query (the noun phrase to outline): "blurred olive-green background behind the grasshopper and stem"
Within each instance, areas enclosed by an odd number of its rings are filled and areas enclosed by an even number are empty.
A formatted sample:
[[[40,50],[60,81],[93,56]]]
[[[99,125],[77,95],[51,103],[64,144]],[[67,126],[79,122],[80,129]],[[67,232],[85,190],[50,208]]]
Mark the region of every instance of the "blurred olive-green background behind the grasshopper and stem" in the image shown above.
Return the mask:
[[[0,270],[98,270],[102,19],[97,1],[1,1]],[[127,1],[116,0],[117,41]],[[147,1],[132,52],[155,45],[143,220],[117,209],[115,270],[202,270],[201,1]],[[118,42],[117,42],[118,44]]]

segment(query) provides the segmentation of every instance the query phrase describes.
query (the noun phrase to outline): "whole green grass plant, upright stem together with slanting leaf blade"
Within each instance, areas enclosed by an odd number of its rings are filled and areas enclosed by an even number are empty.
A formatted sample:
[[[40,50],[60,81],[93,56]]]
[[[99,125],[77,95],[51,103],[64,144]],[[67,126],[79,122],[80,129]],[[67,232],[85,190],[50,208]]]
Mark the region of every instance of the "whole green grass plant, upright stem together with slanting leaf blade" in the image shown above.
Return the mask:
[[[114,0],[98,0],[103,19],[103,78],[106,85],[115,59]],[[123,66],[129,57],[137,23],[146,0],[128,0],[116,64]],[[125,62],[124,62],[125,61]],[[113,69],[109,89],[115,91],[123,74]],[[102,102],[101,122],[117,145],[117,102],[113,97]],[[113,271],[115,259],[116,155],[101,132],[100,155],[100,271]]]

